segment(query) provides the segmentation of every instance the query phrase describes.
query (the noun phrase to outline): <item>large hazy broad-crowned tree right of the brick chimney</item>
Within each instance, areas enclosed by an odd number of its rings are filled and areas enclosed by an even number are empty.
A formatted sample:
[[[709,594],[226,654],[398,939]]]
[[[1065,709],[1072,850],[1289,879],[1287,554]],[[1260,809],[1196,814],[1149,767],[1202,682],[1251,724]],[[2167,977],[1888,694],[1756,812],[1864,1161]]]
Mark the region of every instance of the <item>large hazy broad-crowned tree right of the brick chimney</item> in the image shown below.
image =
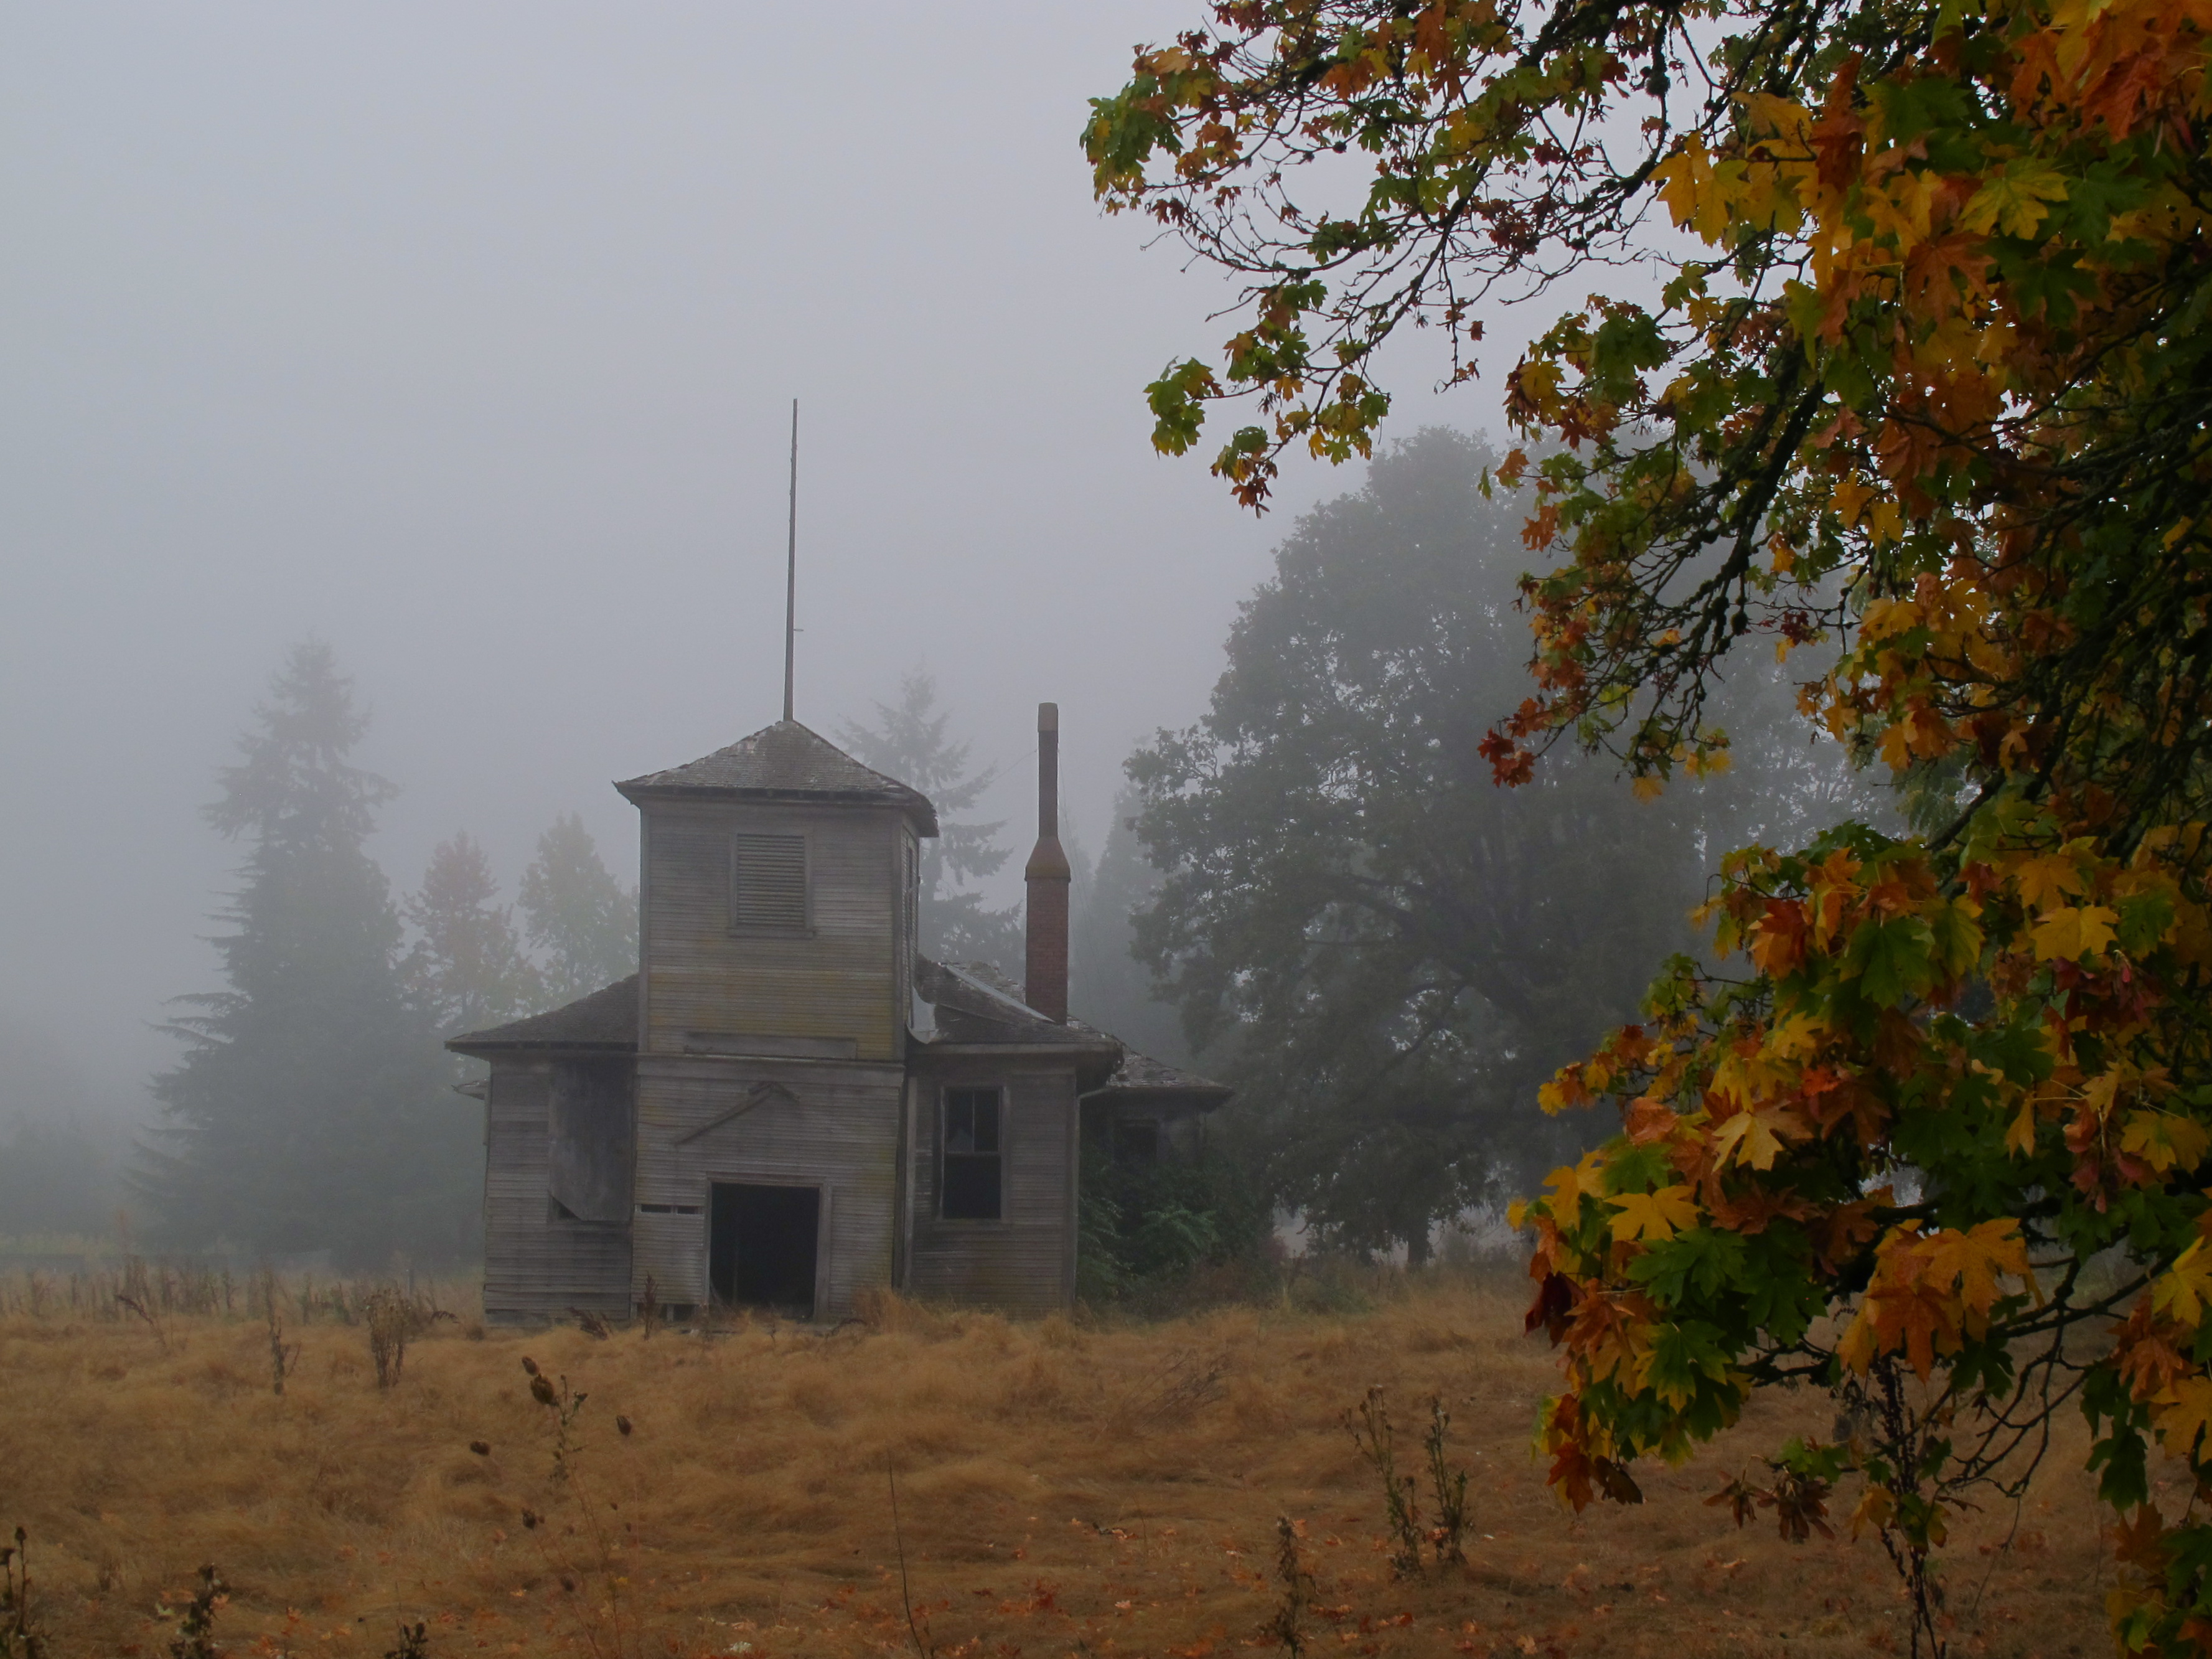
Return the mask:
[[[1491,783],[1520,522],[1431,429],[1303,515],[1206,717],[1130,761],[1164,880],[1137,945],[1239,1088],[1274,1197],[1340,1248],[1573,1157],[1522,1110],[1690,945],[1699,823],[1571,757]],[[1531,1168],[1533,1166],[1533,1168]]]

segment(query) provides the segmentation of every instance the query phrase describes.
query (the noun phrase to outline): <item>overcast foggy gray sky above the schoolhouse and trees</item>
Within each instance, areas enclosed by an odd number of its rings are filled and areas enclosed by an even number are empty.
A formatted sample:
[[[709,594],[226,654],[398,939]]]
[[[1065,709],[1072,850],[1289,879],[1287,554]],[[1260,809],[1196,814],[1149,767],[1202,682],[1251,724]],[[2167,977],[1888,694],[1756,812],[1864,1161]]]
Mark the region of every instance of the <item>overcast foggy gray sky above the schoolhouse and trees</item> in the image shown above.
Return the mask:
[[[1194,719],[1267,522],[1148,447],[1221,290],[1091,204],[1084,97],[1199,0],[0,4],[0,1029],[135,1108],[237,849],[199,818],[321,635],[509,891],[611,779],[936,670],[1022,814],[1057,699],[1095,849]],[[1517,330],[1491,330],[1498,385]],[[1402,367],[1400,431],[1493,422]],[[1020,841],[1022,827],[1009,834]]]

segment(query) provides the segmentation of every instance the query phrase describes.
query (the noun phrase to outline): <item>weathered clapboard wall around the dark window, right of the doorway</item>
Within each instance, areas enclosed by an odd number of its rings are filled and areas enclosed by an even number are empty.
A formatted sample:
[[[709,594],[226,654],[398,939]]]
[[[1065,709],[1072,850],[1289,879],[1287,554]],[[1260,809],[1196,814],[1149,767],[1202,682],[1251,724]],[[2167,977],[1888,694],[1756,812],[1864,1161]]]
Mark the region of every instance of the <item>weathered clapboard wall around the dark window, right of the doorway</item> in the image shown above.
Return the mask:
[[[938,1214],[942,1097],[1000,1088],[1000,1221]],[[1046,1314],[1075,1301],[1075,1068],[933,1055],[916,1066],[909,1110],[905,1290],[916,1296]]]

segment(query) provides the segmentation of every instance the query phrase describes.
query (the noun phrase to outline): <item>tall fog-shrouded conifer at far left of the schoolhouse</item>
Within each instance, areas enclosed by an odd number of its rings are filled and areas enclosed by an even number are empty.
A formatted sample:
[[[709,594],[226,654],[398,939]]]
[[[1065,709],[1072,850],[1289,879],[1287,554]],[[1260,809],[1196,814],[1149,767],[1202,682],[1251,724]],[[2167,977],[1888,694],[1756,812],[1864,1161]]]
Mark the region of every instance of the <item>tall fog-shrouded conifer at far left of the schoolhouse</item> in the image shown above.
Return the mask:
[[[299,646],[206,810],[243,841],[215,940],[228,989],[181,998],[135,1192],[170,1248],[327,1250],[369,1265],[471,1245],[482,1155],[400,982],[400,918],[363,847],[394,785],[347,761],[367,728],[330,646]]]

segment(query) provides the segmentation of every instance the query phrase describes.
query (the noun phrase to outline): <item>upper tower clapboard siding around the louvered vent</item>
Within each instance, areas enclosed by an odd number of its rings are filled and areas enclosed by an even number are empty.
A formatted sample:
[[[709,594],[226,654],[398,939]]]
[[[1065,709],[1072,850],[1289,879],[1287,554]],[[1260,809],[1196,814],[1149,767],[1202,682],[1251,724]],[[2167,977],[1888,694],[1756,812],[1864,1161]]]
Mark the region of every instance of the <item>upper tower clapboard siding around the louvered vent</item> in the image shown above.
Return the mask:
[[[734,931],[732,836],[801,834],[807,936]],[[900,858],[911,832],[889,807],[661,803],[644,812],[646,1053],[743,1048],[743,1037],[827,1044],[896,1062],[911,949]]]

